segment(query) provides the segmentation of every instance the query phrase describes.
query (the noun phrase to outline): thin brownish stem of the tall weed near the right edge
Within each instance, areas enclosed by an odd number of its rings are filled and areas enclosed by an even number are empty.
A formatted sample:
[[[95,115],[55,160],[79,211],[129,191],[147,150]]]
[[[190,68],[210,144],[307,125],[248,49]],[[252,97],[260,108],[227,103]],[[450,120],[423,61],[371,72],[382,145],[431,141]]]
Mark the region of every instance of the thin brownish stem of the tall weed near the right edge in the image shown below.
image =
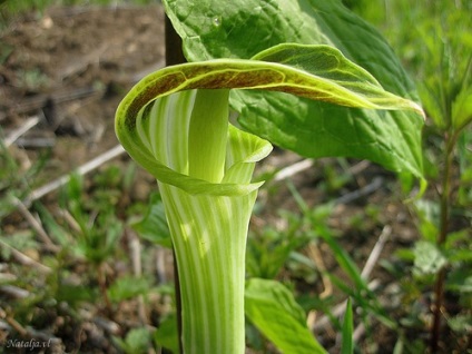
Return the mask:
[[[444,153],[444,171],[442,176],[442,188],[440,191],[441,199],[441,219],[440,219],[440,234],[437,236],[436,245],[442,247],[448,238],[449,224],[450,224],[450,203],[451,203],[451,174],[454,157],[454,147],[458,140],[459,131],[446,134],[445,136],[445,153]],[[444,283],[445,283],[446,268],[443,266],[436,276],[434,285],[434,306],[433,306],[433,325],[431,328],[430,348],[432,353],[439,350],[439,342],[441,336],[441,317],[442,307],[444,302]]]

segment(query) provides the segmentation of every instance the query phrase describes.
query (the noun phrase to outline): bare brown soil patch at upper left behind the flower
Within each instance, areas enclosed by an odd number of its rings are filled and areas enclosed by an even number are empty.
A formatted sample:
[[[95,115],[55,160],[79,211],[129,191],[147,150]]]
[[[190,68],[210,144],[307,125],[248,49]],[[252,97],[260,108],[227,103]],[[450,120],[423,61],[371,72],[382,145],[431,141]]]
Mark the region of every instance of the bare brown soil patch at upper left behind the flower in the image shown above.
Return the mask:
[[[53,134],[65,171],[112,147],[120,98],[164,66],[163,31],[159,7],[52,8],[14,20],[1,38],[2,127],[39,115],[36,136]]]

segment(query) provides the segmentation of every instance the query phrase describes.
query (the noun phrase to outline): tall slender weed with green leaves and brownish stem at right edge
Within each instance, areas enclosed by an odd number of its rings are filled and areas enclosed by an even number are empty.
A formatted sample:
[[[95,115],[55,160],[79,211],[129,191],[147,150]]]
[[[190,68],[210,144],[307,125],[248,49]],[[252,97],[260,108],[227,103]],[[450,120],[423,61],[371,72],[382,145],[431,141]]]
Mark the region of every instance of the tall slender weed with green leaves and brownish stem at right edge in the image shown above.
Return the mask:
[[[449,9],[448,12],[443,12],[444,9],[437,7],[435,11],[441,11],[439,13],[445,17],[444,23],[446,24],[437,26],[424,22],[420,27],[422,37],[425,39],[424,49],[432,53],[433,58],[430,65],[423,68],[420,95],[434,124],[435,135],[442,139],[442,157],[437,160],[441,166],[440,175],[437,179],[432,180],[437,190],[439,223],[433,222],[432,224],[434,225],[432,237],[424,234],[424,242],[431,243],[427,246],[432,250],[429,253],[429,257],[436,255],[439,264],[435,269],[429,269],[436,275],[431,330],[431,350],[433,352],[439,350],[445,291],[446,288],[454,291],[454,286],[448,285],[448,273],[465,275],[472,269],[472,258],[464,257],[471,249],[471,243],[469,242],[468,245],[466,242],[471,236],[471,223],[470,218],[469,222],[465,222],[469,225],[466,226],[469,232],[466,228],[460,230],[453,226],[454,208],[460,205],[452,185],[455,168],[459,169],[460,175],[464,176],[468,176],[468,169],[470,169],[466,164],[458,164],[456,156],[460,154],[459,156],[464,161],[464,157],[470,154],[464,150],[466,146],[462,145],[462,149],[458,149],[458,146],[459,141],[465,141],[471,135],[468,127],[472,122],[472,37],[465,29],[466,27],[463,27],[466,20],[462,17],[462,9]],[[442,48],[437,46],[440,40]],[[461,190],[468,188],[466,178],[460,177]],[[466,201],[464,206],[468,206]],[[455,209],[455,212],[463,213],[460,209]],[[458,216],[460,217],[460,215]],[[425,246],[426,244],[421,245]],[[435,245],[434,250],[433,245]],[[463,284],[466,284],[470,282],[470,277],[465,276],[463,281]],[[465,288],[466,285],[465,287],[460,285],[455,291],[460,289],[462,293],[461,289],[465,291]]]

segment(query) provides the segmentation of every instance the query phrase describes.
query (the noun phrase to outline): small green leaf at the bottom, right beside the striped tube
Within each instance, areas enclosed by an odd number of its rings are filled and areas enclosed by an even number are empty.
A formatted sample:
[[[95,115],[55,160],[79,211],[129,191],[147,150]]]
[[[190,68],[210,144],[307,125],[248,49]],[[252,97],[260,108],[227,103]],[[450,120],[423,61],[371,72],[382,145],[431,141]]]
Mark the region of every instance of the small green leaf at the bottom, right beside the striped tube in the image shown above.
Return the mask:
[[[252,278],[244,298],[246,316],[282,353],[326,353],[309,332],[302,307],[281,283]]]

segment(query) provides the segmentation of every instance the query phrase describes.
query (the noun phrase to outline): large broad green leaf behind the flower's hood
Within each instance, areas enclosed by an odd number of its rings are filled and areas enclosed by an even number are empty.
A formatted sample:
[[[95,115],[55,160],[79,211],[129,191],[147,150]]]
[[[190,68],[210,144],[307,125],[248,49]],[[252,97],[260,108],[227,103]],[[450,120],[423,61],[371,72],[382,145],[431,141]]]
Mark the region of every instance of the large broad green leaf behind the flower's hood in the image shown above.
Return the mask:
[[[389,91],[416,100],[378,32],[332,0],[165,0],[189,61],[252,58],[284,42],[325,43],[367,69]],[[281,92],[232,92],[250,132],[307,157],[366,158],[422,175],[422,118],[406,111],[346,109]]]

